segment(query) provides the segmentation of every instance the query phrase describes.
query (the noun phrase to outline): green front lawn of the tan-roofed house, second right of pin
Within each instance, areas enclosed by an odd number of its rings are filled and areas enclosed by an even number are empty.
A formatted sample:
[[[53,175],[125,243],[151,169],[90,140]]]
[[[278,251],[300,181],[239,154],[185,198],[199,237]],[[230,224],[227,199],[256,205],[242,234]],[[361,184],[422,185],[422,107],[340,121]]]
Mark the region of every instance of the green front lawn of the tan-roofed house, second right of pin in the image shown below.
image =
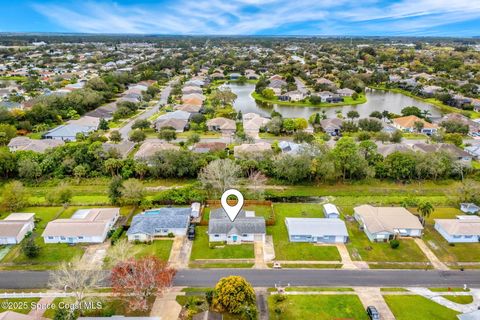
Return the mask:
[[[356,221],[347,222],[347,229],[350,234],[347,249],[353,260],[378,262],[428,261],[413,240],[402,239],[400,240],[400,247],[392,249],[387,242],[371,242],[367,235],[358,228]]]

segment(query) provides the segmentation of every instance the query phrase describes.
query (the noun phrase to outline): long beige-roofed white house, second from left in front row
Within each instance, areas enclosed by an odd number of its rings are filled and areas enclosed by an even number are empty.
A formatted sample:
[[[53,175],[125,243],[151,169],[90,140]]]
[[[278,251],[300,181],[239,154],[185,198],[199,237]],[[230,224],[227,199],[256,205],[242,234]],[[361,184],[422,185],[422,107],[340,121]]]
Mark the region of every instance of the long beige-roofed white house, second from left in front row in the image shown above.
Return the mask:
[[[45,243],[103,243],[120,217],[120,208],[77,210],[70,219],[50,221],[43,231]]]

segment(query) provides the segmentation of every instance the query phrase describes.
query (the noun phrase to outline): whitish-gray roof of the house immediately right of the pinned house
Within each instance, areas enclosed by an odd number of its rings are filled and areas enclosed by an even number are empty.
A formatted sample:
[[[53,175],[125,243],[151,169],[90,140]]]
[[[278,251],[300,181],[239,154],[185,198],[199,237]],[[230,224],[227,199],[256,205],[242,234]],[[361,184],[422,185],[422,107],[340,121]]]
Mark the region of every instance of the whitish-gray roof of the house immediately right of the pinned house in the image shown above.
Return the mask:
[[[290,235],[313,237],[345,236],[348,237],[345,222],[328,218],[285,218]]]

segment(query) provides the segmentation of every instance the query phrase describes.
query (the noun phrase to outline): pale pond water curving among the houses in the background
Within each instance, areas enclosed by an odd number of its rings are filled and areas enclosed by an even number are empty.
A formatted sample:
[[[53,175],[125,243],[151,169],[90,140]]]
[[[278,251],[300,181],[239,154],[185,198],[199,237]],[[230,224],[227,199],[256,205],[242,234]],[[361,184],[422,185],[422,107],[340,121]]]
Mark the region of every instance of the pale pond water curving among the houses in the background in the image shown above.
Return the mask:
[[[361,118],[368,117],[372,111],[388,110],[390,112],[400,114],[402,109],[407,106],[417,106],[421,110],[430,111],[430,115],[434,118],[440,117],[442,114],[438,108],[428,103],[424,103],[410,98],[401,93],[367,89],[367,102],[359,105],[346,105],[341,107],[293,107],[282,106],[277,104],[269,104],[255,101],[251,93],[255,90],[254,84],[227,84],[236,95],[233,106],[236,110],[241,110],[243,114],[255,112],[262,116],[270,116],[273,110],[280,112],[286,118],[305,118],[316,112],[326,111],[327,117],[336,116],[337,110],[341,110],[344,115],[350,110],[356,110]]]

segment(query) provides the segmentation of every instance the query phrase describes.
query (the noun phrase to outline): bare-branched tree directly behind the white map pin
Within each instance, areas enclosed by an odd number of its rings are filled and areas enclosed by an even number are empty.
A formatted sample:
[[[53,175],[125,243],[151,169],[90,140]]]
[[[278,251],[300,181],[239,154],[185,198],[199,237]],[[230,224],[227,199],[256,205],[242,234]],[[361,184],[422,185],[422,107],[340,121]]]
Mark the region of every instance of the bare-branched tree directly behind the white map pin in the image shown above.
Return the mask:
[[[221,194],[238,183],[241,168],[230,159],[217,159],[210,162],[200,172],[203,187]]]

